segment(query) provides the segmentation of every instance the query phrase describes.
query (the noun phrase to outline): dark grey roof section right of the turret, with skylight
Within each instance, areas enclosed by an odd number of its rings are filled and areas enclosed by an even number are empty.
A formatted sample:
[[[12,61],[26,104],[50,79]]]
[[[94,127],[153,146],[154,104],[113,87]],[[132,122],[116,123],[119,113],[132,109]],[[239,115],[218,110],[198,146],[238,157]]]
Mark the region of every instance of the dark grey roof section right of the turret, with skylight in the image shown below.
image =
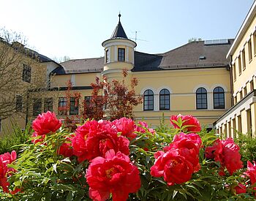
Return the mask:
[[[227,44],[205,45],[205,41],[189,42],[167,53],[145,54],[135,52],[133,71],[161,69],[191,69],[206,67],[226,67],[230,59],[225,58],[233,42]]]

